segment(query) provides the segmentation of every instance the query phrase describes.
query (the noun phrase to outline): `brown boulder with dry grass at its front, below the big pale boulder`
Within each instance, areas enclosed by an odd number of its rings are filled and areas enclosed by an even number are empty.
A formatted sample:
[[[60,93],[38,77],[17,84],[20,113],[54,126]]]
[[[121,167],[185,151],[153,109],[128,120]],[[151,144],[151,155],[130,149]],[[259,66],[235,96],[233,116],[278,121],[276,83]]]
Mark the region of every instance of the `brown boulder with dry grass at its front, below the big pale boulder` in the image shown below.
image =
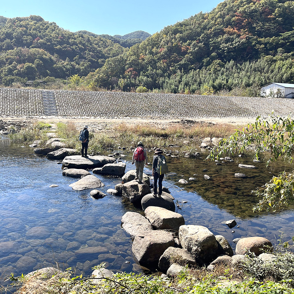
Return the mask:
[[[168,247],[163,252],[163,255],[161,255],[158,267],[163,272],[166,272],[173,263],[179,265],[196,265],[196,258],[186,249]]]

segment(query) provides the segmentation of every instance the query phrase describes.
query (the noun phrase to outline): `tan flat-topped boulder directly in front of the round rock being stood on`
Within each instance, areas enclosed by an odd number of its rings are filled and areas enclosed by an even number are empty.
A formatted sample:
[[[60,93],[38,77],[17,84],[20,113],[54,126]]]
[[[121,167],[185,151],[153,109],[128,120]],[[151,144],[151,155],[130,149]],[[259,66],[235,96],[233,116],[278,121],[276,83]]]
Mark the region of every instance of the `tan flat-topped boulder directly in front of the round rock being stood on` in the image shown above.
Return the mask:
[[[148,206],[145,209],[145,216],[156,230],[179,231],[181,225],[185,224],[183,216],[158,206]]]

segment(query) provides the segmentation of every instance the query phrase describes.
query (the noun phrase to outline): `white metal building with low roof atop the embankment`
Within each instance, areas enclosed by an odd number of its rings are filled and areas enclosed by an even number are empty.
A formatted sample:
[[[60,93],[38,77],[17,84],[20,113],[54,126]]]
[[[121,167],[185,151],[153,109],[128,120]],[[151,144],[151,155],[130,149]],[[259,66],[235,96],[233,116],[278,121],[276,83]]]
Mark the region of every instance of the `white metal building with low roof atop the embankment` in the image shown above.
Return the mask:
[[[294,98],[294,84],[270,83],[260,88],[260,96]]]

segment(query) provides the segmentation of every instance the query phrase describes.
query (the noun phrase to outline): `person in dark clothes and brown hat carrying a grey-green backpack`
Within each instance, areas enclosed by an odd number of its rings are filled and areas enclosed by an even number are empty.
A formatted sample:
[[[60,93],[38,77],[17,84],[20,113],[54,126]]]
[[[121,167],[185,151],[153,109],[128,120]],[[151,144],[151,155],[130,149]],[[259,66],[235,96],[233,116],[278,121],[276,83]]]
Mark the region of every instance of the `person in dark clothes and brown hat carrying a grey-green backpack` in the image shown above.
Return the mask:
[[[166,158],[162,155],[163,151],[159,148],[155,149],[152,163],[152,176],[154,178],[153,196],[157,196],[157,180],[158,180],[158,197],[162,193],[162,180],[164,174],[168,172]]]

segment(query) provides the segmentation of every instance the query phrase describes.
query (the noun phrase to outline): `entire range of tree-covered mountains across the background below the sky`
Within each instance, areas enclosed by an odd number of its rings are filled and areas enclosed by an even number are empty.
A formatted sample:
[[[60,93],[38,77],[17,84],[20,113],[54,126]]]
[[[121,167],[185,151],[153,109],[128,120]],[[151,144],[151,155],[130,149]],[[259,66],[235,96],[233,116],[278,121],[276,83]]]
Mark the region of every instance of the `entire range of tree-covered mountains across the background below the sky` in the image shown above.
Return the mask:
[[[294,1],[226,0],[130,48],[123,38],[145,32],[72,33],[40,16],[0,17],[0,82],[79,74],[84,84],[123,91],[209,94],[241,87],[254,96],[260,85],[294,82],[293,11]]]

